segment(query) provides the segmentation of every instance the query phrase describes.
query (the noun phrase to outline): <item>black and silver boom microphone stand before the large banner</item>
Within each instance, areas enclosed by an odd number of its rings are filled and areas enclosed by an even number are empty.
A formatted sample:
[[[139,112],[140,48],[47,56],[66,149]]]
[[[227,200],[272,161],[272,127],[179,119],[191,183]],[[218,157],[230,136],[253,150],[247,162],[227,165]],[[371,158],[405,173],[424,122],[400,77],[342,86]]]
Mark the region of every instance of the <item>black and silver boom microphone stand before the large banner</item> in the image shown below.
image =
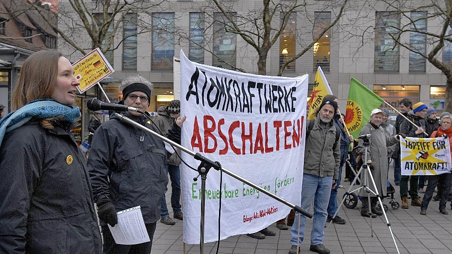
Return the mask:
[[[290,208],[294,209],[295,211],[303,214],[304,216],[308,217],[308,218],[312,218],[312,214],[309,213],[308,211],[304,210],[303,208],[301,208],[298,205],[294,205],[292,203],[290,203],[289,201],[265,190],[264,188],[258,186],[257,184],[254,184],[248,180],[246,180],[245,178],[242,178],[241,176],[234,174],[233,172],[229,171],[228,169],[225,169],[223,167],[221,167],[219,165],[219,163],[217,164],[216,162],[213,162],[211,160],[209,160],[208,158],[205,158],[204,156],[202,156],[199,153],[195,153],[191,150],[186,149],[185,147],[175,143],[174,141],[169,140],[166,137],[161,136],[160,134],[152,131],[151,129],[147,128],[146,126],[141,125],[140,123],[122,115],[119,113],[114,113],[114,115],[118,116],[121,120],[128,122],[132,125],[134,125],[135,127],[137,127],[138,129],[141,129],[149,134],[151,134],[152,136],[166,142],[169,143],[171,145],[173,145],[176,148],[179,148],[181,151],[183,151],[184,153],[187,153],[189,155],[191,155],[195,160],[200,161],[200,165],[198,167],[198,173],[201,176],[201,239],[200,239],[200,248],[201,248],[201,254],[204,251],[204,215],[205,215],[205,180],[207,178],[207,173],[209,172],[209,169],[214,168],[218,171],[222,171],[226,174],[228,174],[229,176],[234,177],[235,179],[241,181],[242,183],[245,183],[257,190],[259,190],[260,192],[264,193],[265,195],[278,200],[279,202],[289,206]],[[196,177],[197,178],[197,177]]]

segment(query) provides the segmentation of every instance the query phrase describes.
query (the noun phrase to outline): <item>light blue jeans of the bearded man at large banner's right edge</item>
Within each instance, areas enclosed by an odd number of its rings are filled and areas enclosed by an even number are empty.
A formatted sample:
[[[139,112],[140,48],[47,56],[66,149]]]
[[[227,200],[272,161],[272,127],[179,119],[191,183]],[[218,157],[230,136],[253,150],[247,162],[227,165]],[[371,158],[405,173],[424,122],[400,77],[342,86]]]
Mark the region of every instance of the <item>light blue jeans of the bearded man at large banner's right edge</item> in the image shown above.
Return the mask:
[[[312,217],[313,225],[311,231],[311,245],[322,243],[325,233],[323,228],[326,222],[326,207],[331,193],[332,176],[318,177],[310,174],[303,174],[303,184],[301,186],[301,208],[309,211],[311,203],[314,201],[314,216]],[[300,234],[298,235],[298,220],[300,214],[295,214],[295,220],[290,233],[292,245],[297,245],[297,237],[301,243],[304,238],[304,228],[306,225],[306,217],[301,215]]]

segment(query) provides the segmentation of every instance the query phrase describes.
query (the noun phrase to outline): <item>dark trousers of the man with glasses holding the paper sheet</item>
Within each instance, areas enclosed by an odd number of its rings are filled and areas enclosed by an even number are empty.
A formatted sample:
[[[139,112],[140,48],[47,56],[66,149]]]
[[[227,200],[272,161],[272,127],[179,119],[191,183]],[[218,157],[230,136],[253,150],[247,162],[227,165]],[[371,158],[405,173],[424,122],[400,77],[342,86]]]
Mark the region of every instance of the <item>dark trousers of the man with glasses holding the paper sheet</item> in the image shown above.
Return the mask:
[[[103,235],[103,253],[105,254],[149,254],[152,248],[152,238],[157,222],[145,224],[146,231],[148,231],[149,239],[151,241],[143,242],[134,245],[117,244],[111,235],[110,229],[107,225],[102,226]]]

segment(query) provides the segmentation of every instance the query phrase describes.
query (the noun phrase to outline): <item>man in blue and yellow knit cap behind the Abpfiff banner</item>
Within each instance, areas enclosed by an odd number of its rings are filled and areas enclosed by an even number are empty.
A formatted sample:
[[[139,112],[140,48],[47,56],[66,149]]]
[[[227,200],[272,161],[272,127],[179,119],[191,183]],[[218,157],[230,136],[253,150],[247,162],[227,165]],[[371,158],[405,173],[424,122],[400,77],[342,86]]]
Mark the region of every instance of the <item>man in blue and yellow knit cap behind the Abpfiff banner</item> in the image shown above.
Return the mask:
[[[412,123],[410,123],[407,119],[405,119],[400,124],[400,134],[406,137],[412,138],[428,138],[424,134],[424,130],[426,130],[426,119],[427,116],[427,106],[418,102],[413,105],[413,113],[408,113],[408,119],[410,119],[414,124],[419,126],[416,128]],[[418,191],[418,181],[419,176],[402,176],[400,179],[400,197],[402,199],[402,208],[408,208],[408,181],[410,182],[410,190],[409,194],[411,197],[411,205],[420,206],[421,200]]]

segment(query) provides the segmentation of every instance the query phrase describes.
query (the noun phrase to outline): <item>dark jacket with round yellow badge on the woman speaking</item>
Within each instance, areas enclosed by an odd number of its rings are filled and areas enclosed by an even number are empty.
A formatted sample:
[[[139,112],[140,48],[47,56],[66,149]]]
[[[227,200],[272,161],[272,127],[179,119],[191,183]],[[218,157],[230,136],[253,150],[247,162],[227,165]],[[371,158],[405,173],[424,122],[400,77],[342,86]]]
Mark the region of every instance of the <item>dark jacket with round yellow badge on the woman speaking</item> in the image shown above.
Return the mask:
[[[63,124],[44,129],[32,120],[5,135],[0,253],[102,251],[86,162]]]

